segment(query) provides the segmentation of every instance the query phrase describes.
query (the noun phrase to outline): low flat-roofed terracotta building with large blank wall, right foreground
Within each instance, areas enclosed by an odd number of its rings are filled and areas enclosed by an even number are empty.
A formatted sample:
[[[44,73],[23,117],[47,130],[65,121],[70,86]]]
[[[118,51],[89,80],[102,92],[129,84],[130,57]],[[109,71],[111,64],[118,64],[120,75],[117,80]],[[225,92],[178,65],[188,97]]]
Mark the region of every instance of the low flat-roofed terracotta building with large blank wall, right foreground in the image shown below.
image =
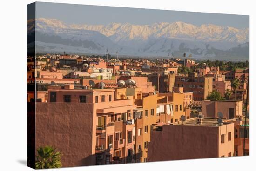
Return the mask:
[[[234,156],[234,123],[197,118],[156,125],[148,145],[148,161]]]

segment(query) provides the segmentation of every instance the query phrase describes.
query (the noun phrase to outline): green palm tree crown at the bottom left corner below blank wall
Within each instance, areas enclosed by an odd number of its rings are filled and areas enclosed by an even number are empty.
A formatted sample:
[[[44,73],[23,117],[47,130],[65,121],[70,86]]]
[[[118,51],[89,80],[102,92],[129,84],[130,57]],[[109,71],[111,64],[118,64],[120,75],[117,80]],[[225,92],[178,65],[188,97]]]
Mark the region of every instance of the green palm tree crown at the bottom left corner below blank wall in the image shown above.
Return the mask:
[[[39,147],[37,149],[35,168],[60,168],[61,167],[61,152],[55,152],[51,146]]]

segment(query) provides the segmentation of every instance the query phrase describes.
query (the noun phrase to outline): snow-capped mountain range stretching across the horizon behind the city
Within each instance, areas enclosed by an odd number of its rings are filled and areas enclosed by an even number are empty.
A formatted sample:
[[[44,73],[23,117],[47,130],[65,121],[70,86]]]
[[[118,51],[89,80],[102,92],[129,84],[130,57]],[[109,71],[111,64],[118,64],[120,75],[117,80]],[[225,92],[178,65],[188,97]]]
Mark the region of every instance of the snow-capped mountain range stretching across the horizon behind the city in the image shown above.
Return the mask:
[[[63,52],[66,49],[70,53],[102,54],[108,48],[110,53],[118,50],[120,55],[167,56],[171,52],[178,56],[187,52],[198,58],[249,59],[249,43],[246,43],[249,42],[249,28],[237,29],[213,24],[195,26],[184,22],[77,25],[44,18],[36,19],[35,23],[36,41],[40,44],[37,51],[52,52],[59,49]],[[49,43],[51,45],[46,47]],[[241,50],[239,55],[232,53],[233,48]]]

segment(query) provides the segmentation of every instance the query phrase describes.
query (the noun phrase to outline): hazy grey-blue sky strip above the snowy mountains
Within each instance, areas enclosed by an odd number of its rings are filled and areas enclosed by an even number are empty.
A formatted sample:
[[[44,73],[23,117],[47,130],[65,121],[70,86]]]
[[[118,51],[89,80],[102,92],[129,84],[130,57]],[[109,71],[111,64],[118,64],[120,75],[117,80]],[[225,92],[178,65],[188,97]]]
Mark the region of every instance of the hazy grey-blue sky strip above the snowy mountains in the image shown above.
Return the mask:
[[[232,26],[240,29],[249,28],[248,15],[36,2],[36,18],[40,17],[55,18],[68,24],[104,25],[111,22],[128,22],[144,25],[156,22],[182,21],[197,26],[211,23],[218,26]]]

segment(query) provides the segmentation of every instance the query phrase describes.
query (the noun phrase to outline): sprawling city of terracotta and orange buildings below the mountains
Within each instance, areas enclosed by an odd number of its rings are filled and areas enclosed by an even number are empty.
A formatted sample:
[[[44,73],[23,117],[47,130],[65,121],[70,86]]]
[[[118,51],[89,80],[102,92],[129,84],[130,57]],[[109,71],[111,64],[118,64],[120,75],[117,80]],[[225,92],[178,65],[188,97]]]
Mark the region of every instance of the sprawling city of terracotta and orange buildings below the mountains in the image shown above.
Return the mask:
[[[249,155],[248,67],[186,53],[28,57],[36,147],[59,149],[64,167]]]

